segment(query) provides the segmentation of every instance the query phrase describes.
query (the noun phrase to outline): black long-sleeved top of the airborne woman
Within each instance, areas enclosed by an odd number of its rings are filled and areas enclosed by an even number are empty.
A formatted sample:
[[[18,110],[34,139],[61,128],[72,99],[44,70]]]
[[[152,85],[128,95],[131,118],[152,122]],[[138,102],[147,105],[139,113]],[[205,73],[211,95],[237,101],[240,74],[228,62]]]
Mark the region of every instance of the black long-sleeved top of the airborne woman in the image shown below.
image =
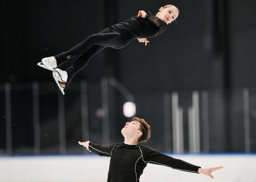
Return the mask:
[[[110,27],[121,34],[125,44],[135,38],[155,37],[167,30],[167,23],[155,17],[152,13],[145,12],[147,13],[145,18],[136,15]]]

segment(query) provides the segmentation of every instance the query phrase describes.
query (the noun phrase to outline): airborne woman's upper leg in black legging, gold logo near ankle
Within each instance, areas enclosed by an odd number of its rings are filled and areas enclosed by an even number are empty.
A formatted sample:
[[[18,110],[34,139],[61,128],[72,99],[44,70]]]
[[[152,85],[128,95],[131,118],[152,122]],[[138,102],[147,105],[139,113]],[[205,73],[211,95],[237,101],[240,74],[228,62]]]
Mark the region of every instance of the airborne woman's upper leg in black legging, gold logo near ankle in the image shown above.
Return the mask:
[[[106,28],[100,33],[90,35],[72,49],[54,56],[57,60],[58,67],[72,56],[78,56],[87,52],[94,45],[120,49],[125,46],[125,43],[120,33],[113,31],[111,28]]]

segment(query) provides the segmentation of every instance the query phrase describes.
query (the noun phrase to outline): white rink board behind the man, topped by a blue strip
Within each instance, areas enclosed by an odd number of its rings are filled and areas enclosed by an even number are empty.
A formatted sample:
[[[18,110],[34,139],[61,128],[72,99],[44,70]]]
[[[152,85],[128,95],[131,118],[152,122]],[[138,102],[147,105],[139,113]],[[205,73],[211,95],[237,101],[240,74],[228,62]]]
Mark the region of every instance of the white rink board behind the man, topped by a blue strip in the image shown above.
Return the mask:
[[[140,182],[256,182],[256,155],[172,155],[202,168],[224,166],[213,173],[183,172],[148,164]],[[109,157],[0,157],[0,182],[106,182]]]

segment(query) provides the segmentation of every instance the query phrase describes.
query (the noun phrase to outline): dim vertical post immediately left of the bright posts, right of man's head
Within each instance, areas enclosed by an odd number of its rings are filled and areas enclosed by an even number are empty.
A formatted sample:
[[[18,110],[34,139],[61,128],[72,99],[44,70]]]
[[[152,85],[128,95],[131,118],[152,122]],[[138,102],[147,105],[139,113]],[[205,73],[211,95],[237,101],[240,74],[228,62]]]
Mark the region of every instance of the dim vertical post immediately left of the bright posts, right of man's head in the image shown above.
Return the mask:
[[[171,152],[171,96],[163,95],[164,151]]]

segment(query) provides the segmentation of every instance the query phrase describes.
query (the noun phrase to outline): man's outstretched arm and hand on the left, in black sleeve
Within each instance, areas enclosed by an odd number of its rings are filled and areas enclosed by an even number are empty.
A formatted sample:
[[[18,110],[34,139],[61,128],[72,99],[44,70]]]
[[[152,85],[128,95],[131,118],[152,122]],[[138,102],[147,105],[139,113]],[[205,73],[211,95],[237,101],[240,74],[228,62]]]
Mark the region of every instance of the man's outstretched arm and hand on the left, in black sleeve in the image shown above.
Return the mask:
[[[111,151],[115,145],[113,144],[111,146],[103,146],[101,144],[94,144],[90,141],[86,141],[86,142],[79,141],[78,144],[83,145],[90,152],[92,151],[99,156],[107,156],[107,157],[111,157]]]

